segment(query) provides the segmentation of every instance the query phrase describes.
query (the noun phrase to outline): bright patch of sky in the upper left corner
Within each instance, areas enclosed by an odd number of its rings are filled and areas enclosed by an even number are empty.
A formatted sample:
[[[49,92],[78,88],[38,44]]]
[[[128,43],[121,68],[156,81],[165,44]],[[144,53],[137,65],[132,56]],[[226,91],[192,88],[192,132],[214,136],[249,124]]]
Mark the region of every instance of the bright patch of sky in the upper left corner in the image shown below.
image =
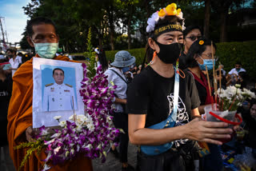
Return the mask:
[[[7,32],[8,42],[20,42],[22,39],[28,19],[22,6],[26,6],[29,2],[30,0],[0,0],[0,16],[4,17],[2,25],[3,30]],[[0,39],[2,39],[2,32]]]

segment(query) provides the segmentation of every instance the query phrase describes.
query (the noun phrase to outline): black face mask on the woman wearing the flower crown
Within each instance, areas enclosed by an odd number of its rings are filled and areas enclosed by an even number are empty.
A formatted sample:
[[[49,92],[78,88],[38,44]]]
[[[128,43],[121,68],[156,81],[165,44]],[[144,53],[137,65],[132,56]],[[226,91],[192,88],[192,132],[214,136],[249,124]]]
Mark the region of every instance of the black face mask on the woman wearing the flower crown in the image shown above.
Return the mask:
[[[170,45],[163,45],[157,41],[155,42],[158,44],[160,48],[158,58],[160,58],[162,62],[166,64],[173,64],[177,61],[183,47],[182,43],[172,43]]]

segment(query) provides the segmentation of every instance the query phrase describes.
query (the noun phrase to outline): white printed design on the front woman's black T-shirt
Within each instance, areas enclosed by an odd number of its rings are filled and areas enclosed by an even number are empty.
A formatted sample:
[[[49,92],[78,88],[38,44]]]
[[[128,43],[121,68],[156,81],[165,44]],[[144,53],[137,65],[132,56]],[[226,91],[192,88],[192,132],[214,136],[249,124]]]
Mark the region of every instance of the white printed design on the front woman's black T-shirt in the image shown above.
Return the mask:
[[[167,99],[169,101],[170,113],[171,113],[174,109],[174,93],[170,93],[170,95],[167,96]],[[189,115],[186,112],[186,106],[183,103],[182,98],[178,97],[177,120],[176,120],[175,126],[185,125],[188,122],[189,122]],[[180,140],[174,141],[174,144],[176,147],[178,147],[181,144],[185,144],[186,141],[188,140],[189,139],[180,139]]]

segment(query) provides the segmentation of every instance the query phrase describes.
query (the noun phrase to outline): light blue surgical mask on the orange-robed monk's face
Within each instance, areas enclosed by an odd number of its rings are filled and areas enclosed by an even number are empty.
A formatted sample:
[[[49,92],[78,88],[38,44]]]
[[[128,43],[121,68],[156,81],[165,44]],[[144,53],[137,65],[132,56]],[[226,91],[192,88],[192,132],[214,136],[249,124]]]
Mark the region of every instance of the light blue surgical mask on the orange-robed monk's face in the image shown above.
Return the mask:
[[[58,50],[58,43],[34,43],[35,53],[41,58],[54,58]]]

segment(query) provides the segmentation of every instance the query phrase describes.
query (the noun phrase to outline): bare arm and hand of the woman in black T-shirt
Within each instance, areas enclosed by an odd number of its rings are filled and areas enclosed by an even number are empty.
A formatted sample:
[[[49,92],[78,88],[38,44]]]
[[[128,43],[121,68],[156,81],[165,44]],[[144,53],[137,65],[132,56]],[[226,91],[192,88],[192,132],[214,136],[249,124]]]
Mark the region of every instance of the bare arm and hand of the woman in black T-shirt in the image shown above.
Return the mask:
[[[195,118],[186,125],[166,129],[145,128],[146,114],[129,114],[129,138],[135,145],[162,145],[178,139],[190,139],[194,141],[206,141],[218,145],[222,142],[216,138],[230,137],[232,129],[227,129],[226,123],[200,121]]]

